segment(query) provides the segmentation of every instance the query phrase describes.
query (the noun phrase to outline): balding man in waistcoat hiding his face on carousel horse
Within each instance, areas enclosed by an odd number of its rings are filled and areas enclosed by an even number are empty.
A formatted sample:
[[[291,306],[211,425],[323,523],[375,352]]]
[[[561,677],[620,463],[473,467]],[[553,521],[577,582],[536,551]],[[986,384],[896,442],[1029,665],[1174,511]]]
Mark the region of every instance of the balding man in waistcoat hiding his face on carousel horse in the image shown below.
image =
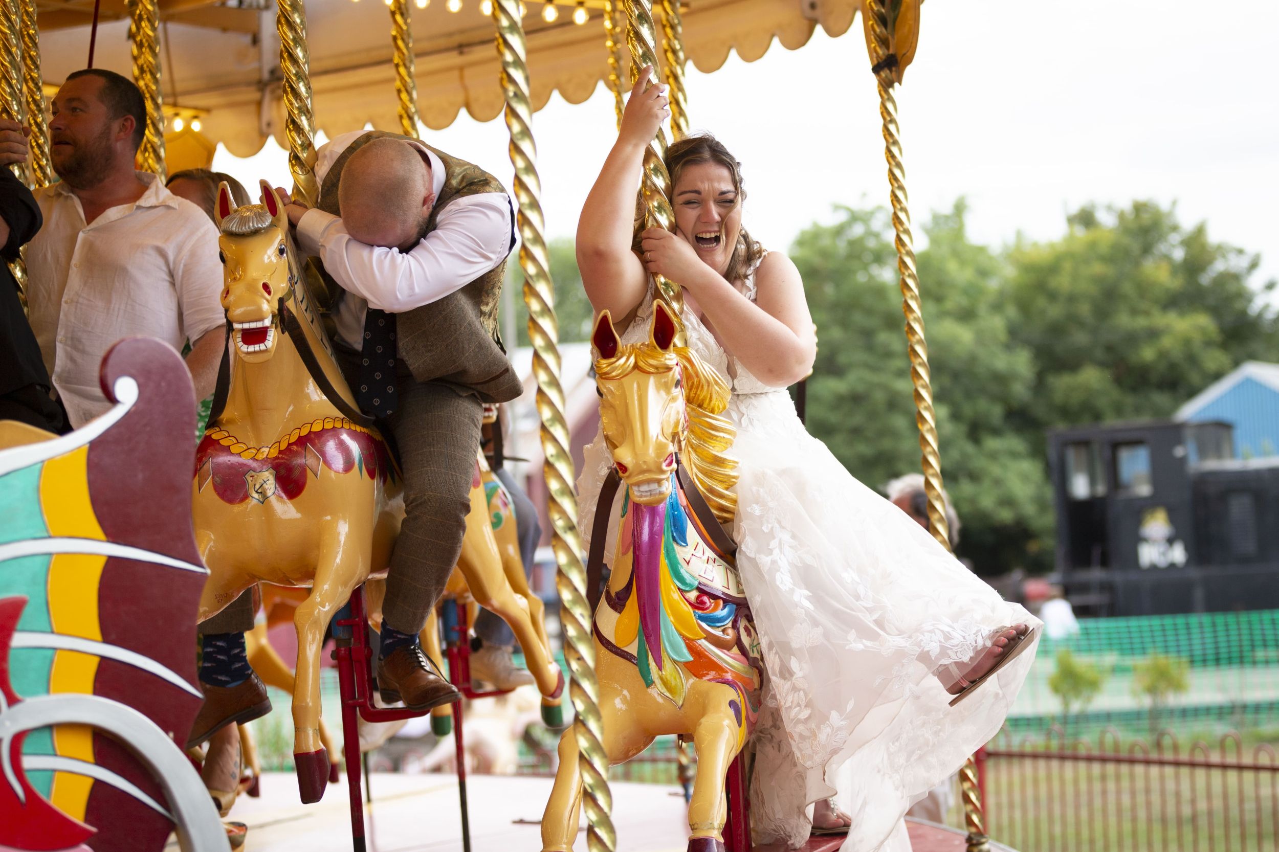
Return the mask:
[[[379,687],[425,710],[460,700],[418,633],[462,551],[482,404],[523,391],[496,321],[514,211],[492,175],[394,133],[339,136],[318,150],[316,179],[316,209],[279,192],[301,251],[320,261],[338,293],[343,372],[361,409],[394,438],[404,475]],[[252,611],[242,601],[233,608],[244,610],[234,628],[203,638],[217,652],[205,655],[201,670],[197,742],[265,700],[243,658]]]

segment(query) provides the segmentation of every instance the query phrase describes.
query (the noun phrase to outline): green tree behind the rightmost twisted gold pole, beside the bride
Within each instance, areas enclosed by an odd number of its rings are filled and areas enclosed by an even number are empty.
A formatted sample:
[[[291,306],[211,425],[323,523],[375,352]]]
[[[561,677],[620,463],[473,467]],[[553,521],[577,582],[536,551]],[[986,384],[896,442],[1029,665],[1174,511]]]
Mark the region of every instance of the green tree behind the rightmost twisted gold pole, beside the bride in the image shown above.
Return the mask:
[[[920,468],[897,255],[886,211],[840,212],[801,233],[790,252],[817,322],[808,427],[877,487]],[[982,573],[1044,567],[1044,464],[1009,421],[1030,403],[1033,358],[1009,330],[1004,261],[968,241],[962,201],[923,230],[918,267],[943,472],[963,519],[959,550]]]

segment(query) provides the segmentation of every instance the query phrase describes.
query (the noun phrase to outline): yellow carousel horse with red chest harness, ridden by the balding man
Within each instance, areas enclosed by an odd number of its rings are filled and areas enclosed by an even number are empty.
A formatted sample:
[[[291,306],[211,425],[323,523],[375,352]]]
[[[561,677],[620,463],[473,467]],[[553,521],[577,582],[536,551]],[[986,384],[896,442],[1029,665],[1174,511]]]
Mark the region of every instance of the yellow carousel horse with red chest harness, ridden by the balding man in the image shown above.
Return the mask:
[[[200,619],[257,582],[311,587],[294,615],[293,751],[302,800],[313,802],[329,780],[320,736],[325,626],[358,585],[385,574],[403,495],[386,444],[359,413],[307,298],[284,209],[261,185],[263,203],[237,209],[223,184],[215,210],[230,370],[192,484],[197,545],[210,571]],[[538,690],[551,696],[563,678],[527,601],[505,581],[478,468],[471,505],[459,565],[476,600],[512,626]]]

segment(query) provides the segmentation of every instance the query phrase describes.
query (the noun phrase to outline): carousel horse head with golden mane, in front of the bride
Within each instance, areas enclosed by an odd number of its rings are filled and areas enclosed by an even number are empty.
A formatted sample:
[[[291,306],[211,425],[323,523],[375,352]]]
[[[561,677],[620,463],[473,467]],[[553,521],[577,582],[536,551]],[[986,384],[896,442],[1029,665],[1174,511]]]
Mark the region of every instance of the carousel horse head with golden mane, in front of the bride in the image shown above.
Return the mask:
[[[729,386],[688,347],[675,345],[678,320],[654,303],[648,339],[623,344],[608,311],[591,334],[604,439],[631,499],[660,505],[679,462],[721,521],[733,517],[735,462],[723,455],[733,425],[723,416]]]

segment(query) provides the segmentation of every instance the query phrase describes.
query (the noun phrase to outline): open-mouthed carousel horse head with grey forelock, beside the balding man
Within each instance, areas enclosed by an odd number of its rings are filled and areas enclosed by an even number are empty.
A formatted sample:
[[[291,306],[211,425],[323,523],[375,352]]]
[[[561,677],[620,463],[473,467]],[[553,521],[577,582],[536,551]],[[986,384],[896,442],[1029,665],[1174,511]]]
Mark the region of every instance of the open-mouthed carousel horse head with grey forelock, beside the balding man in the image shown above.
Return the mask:
[[[289,217],[271,185],[261,182],[262,203],[237,207],[230,187],[217,187],[215,220],[223,261],[223,308],[231,324],[234,352],[247,363],[275,353],[278,306],[289,298],[295,276],[290,262]]]

